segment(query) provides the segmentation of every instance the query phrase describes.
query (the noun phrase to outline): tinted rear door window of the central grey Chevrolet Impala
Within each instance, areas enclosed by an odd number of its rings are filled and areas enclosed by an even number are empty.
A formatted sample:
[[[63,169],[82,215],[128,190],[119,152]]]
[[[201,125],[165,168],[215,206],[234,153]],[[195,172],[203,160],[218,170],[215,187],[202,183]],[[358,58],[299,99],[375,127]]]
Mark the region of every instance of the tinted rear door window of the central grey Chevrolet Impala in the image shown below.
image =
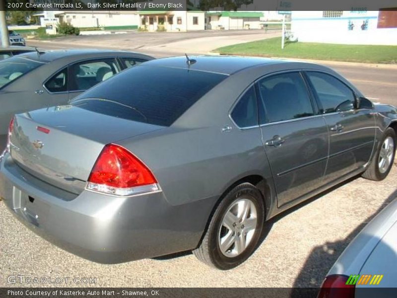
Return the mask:
[[[306,84],[299,73],[277,74],[259,82],[268,122],[314,115]]]

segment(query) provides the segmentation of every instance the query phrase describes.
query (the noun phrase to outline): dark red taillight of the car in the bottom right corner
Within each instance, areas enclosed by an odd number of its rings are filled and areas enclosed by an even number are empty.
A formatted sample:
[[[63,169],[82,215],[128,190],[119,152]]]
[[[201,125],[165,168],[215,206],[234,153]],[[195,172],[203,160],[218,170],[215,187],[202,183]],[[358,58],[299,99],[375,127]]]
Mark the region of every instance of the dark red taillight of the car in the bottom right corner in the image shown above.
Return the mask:
[[[354,298],[355,286],[346,285],[348,279],[340,274],[327,276],[317,298]]]

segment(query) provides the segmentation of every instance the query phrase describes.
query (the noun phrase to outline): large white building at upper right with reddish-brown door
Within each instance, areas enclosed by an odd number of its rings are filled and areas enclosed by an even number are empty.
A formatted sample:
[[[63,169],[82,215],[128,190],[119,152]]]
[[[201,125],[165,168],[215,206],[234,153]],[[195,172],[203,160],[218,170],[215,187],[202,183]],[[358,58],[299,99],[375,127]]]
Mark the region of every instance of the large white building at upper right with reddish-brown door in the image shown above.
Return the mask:
[[[300,42],[397,45],[397,11],[292,11],[291,31]]]

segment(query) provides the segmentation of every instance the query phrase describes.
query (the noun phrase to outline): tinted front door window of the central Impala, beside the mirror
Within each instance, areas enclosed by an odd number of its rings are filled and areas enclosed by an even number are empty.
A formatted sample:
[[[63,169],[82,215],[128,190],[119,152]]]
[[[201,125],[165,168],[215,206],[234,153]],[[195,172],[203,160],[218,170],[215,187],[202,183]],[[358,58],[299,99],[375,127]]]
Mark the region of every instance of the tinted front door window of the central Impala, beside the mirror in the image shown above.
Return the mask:
[[[316,72],[307,74],[322,105],[322,113],[333,113],[354,107],[353,91],[340,80],[329,74]]]

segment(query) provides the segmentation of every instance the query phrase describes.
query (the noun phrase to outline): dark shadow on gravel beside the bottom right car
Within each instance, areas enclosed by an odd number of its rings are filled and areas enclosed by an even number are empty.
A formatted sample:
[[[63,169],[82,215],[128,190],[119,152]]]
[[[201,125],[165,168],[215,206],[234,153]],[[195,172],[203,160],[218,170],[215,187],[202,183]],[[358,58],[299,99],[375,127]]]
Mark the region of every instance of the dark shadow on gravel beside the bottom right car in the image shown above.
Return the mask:
[[[368,224],[377,214],[379,214],[389,203],[397,197],[397,189],[389,195],[383,202],[381,207],[361,224],[359,224],[349,235],[343,240],[335,242],[326,242],[312,249],[299,275],[296,277],[293,288],[319,288],[326,277],[327,273],[335,263],[337,258],[353,240],[353,238]],[[300,291],[297,290],[296,294]],[[293,293],[292,293],[293,294]],[[299,295],[291,295],[291,297],[300,297]]]

